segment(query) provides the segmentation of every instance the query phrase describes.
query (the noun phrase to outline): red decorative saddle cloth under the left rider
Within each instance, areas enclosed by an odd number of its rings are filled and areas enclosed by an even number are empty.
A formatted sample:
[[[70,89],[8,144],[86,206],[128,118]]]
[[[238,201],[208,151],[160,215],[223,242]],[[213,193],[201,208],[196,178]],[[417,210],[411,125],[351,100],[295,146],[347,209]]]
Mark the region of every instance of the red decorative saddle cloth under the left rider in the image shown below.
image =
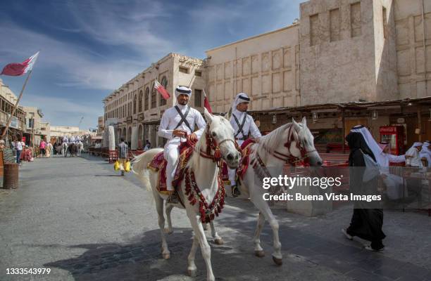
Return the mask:
[[[178,149],[180,150],[180,158],[177,169],[175,170],[173,186],[180,185],[182,180],[182,174],[184,174],[185,166],[187,165],[187,162],[189,162],[190,157],[192,157],[194,145],[196,145],[196,142],[185,141],[184,143],[181,143],[178,147]],[[168,187],[166,185],[166,164],[168,164],[168,162],[163,157],[162,151],[158,153],[153,158],[153,160],[151,160],[151,162],[148,164],[148,169],[158,171],[157,190],[161,194],[168,195],[170,194],[170,192],[168,192]]]

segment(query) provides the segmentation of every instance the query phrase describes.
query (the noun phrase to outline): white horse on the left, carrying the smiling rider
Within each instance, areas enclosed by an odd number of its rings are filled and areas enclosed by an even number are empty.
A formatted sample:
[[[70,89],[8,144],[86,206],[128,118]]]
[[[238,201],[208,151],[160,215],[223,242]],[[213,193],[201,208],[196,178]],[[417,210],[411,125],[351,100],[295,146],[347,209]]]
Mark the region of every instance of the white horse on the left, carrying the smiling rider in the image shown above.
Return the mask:
[[[194,172],[196,179],[195,183],[201,190],[201,195],[204,200],[206,202],[213,202],[213,199],[217,198],[216,196],[219,196],[220,198],[220,190],[218,189],[218,164],[220,164],[221,159],[218,158],[218,156],[221,156],[230,168],[235,169],[239,165],[241,154],[235,145],[234,130],[232,129],[230,122],[225,119],[225,117],[211,115],[207,110],[205,110],[204,115],[208,123],[206,124],[206,129],[202,137],[194,148],[194,152],[192,152],[192,157],[187,164],[187,169],[188,171]],[[163,201],[167,199],[168,195],[161,195],[158,192],[156,188],[158,182],[157,173],[146,169],[154,156],[162,151],[163,149],[161,148],[155,148],[137,156],[133,161],[132,171],[137,174],[138,178],[142,183],[144,183],[146,188],[153,192],[158,213],[158,226],[161,231],[162,255],[163,259],[169,259],[170,251],[165,239],[165,217],[163,215]],[[189,181],[193,183],[193,180],[190,180],[190,178],[192,177],[189,177]],[[199,244],[202,256],[206,263],[206,279],[215,280],[213,269],[211,267],[211,248],[206,240],[204,228],[202,226],[201,212],[199,210],[199,203],[202,202],[202,200],[199,199],[199,196],[195,192],[194,198],[197,200],[197,204],[192,205],[192,203],[189,202],[190,196],[187,195],[186,181],[187,174],[185,179],[182,180],[178,193],[180,195],[180,199],[185,204],[187,216],[194,230],[194,239],[192,249],[188,256],[187,270],[189,275],[196,275],[197,268],[194,263],[194,257]],[[189,187],[190,186],[191,185],[189,185]],[[175,204],[175,207],[180,207],[180,205]],[[172,204],[166,205],[169,229],[172,229],[172,225],[170,223],[170,211],[172,208]]]

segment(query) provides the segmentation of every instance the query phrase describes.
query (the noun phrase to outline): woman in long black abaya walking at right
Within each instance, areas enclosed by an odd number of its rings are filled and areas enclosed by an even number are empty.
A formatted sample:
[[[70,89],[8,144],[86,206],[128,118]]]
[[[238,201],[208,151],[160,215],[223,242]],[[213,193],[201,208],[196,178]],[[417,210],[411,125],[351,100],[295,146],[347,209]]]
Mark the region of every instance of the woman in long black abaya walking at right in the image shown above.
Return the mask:
[[[349,143],[350,148],[349,166],[351,168],[349,178],[351,192],[356,195],[377,194],[377,176],[363,182],[363,174],[366,170],[364,154],[370,156],[375,161],[373,152],[368,148],[361,133],[349,133],[346,136],[346,141]],[[351,217],[350,226],[346,230],[343,229],[342,232],[350,240],[354,236],[357,236],[363,240],[370,241],[371,244],[366,249],[381,251],[385,248],[382,240],[386,235],[382,231],[383,211],[382,209],[376,209],[376,207],[378,207],[376,206],[376,202],[356,201],[354,203],[354,214]]]

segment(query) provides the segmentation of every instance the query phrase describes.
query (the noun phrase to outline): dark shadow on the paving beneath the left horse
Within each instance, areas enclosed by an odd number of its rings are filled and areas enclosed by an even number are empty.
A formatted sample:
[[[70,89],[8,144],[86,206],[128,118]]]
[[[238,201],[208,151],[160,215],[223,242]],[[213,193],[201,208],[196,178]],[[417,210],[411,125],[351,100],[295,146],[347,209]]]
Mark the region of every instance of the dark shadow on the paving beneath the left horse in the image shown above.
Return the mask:
[[[233,235],[230,239],[242,238]],[[44,266],[68,270],[75,280],[161,280],[169,276],[174,277],[170,280],[188,279],[187,256],[192,246],[192,231],[176,228],[173,234],[168,235],[171,252],[168,260],[161,259],[159,240],[159,230],[149,230],[127,244],[80,244],[72,248],[87,249],[81,256],[54,261]],[[211,244],[211,263],[218,280],[224,280],[225,277],[232,280],[256,280],[256,276],[262,275],[263,270],[269,269],[268,262],[261,263],[262,260],[258,258],[253,264],[244,263],[244,256],[250,256],[251,253],[236,251],[228,244],[215,245],[211,238],[208,241]],[[196,266],[196,279],[205,280],[206,267],[199,250],[196,253]],[[236,266],[240,270],[235,270]],[[271,263],[269,266],[276,268]]]

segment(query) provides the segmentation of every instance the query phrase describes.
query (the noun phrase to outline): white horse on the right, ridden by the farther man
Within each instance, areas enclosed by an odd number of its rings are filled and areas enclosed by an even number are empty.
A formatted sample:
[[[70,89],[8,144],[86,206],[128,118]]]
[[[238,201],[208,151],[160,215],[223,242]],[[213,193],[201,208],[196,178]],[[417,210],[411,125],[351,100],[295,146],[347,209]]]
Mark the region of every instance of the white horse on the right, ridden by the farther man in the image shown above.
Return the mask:
[[[306,118],[302,119],[301,123],[295,122],[292,119],[292,123],[288,123],[280,126],[266,136],[261,137],[259,143],[254,143],[251,147],[251,154],[249,155],[249,161],[257,161],[259,171],[271,170],[271,167],[282,168],[285,164],[294,164],[294,162],[306,161],[311,166],[322,165],[322,159],[318,155],[316,148],[314,148],[314,137],[306,124]],[[258,159],[261,159],[259,163]],[[281,172],[281,171],[280,171]],[[265,174],[265,173],[263,173]],[[277,177],[277,174],[266,174],[267,177]],[[277,265],[282,264],[282,253],[281,253],[281,243],[280,237],[278,235],[279,224],[277,219],[273,215],[268,202],[263,200],[263,193],[267,192],[262,188],[262,185],[256,184],[256,171],[252,164],[249,164],[248,169],[244,175],[244,179],[241,181],[239,190],[241,190],[241,196],[239,198],[247,199],[249,198],[251,202],[259,210],[257,227],[254,234],[254,253],[258,257],[265,256],[265,252],[261,247],[261,231],[265,221],[269,221],[270,227],[273,230],[273,261]],[[232,195],[230,188],[227,188],[227,195]],[[169,229],[172,231],[172,226],[170,226],[170,211],[168,214]],[[218,236],[215,231],[213,221],[210,222],[211,233],[218,237],[218,240],[223,241],[221,237]]]

